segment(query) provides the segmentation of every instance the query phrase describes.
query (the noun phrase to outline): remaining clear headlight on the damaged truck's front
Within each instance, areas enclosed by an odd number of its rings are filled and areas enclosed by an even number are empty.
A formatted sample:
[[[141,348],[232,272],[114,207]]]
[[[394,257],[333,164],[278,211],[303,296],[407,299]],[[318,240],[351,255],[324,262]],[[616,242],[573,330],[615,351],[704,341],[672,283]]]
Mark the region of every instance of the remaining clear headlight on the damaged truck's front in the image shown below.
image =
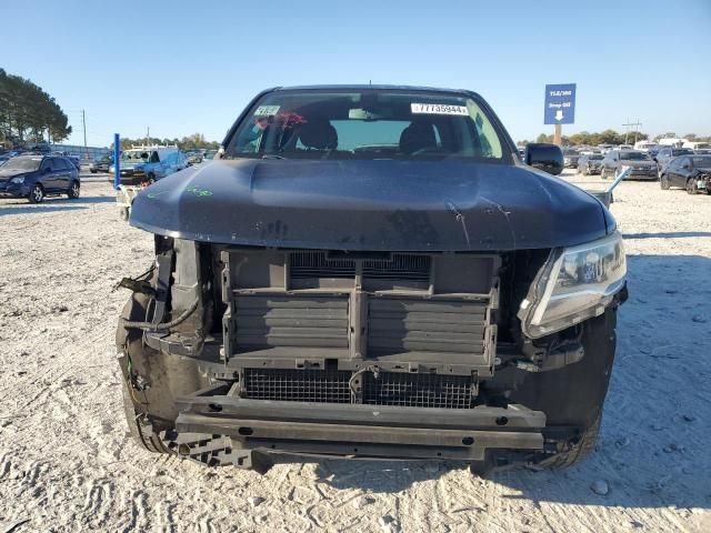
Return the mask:
[[[604,312],[624,285],[627,260],[619,232],[553,250],[521,302],[525,335],[537,339]]]

